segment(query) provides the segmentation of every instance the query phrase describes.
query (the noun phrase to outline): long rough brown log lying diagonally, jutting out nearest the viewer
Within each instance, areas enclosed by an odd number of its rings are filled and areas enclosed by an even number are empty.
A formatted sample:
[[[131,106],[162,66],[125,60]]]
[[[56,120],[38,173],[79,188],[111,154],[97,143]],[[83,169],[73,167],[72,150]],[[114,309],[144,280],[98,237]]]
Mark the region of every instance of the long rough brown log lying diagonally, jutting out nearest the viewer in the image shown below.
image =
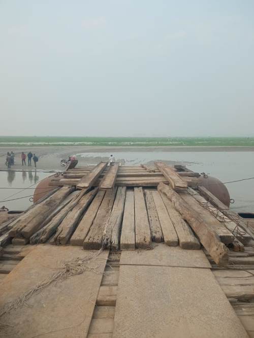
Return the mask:
[[[218,266],[227,266],[229,259],[227,247],[220,242],[218,235],[207,226],[201,215],[183,201],[170,186],[161,183],[158,185],[158,191],[164,193],[172,201],[176,210],[192,227],[215,263]]]

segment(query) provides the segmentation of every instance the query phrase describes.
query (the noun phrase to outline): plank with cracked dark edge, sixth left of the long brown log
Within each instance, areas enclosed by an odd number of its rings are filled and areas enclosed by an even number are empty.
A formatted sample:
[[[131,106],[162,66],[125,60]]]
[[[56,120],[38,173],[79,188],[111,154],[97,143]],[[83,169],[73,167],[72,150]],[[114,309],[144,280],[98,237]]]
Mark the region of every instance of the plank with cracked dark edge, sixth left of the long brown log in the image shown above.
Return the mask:
[[[102,247],[118,250],[120,226],[124,210],[124,202],[126,195],[126,186],[120,186],[117,189],[116,198],[102,239]]]

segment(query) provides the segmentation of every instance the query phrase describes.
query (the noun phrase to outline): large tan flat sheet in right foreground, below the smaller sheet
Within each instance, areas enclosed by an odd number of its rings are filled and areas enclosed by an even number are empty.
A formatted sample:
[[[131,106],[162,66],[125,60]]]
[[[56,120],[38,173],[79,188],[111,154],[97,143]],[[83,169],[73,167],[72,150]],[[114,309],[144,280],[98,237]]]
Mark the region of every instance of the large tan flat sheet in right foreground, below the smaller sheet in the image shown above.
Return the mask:
[[[210,269],[131,264],[120,266],[113,338],[248,337]]]

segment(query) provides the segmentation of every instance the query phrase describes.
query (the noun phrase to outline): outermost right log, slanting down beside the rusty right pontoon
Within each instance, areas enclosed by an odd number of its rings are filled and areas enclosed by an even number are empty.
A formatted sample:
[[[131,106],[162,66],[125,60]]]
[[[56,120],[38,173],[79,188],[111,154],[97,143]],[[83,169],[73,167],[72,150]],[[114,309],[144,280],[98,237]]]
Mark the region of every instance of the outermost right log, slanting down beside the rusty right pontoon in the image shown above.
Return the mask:
[[[216,208],[218,208],[224,215],[236,222],[240,228],[242,228],[252,239],[254,239],[252,230],[246,227],[246,224],[241,220],[239,215],[233,210],[229,209],[224,203],[222,203],[217,197],[210,193],[204,186],[199,186],[200,193],[211,202]]]

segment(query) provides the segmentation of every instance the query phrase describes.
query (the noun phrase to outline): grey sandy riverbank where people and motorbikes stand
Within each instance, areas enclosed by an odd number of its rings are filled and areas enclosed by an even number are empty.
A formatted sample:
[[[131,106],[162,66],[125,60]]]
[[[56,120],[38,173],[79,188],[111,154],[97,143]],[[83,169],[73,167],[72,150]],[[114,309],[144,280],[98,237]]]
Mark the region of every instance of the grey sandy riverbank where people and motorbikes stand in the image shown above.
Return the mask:
[[[69,155],[77,155],[81,153],[103,153],[103,156],[81,157],[77,156],[79,166],[99,163],[100,161],[107,161],[110,154],[122,153],[121,158],[117,160],[124,164],[124,153],[139,153],[139,152],[254,152],[252,146],[160,146],[160,147],[102,147],[102,146],[37,146],[37,147],[0,147],[0,170],[6,170],[5,158],[8,151],[15,153],[15,165],[12,170],[28,170],[30,167],[21,165],[21,152],[27,154],[29,151],[35,153],[39,157],[37,168],[41,170],[63,170],[60,166],[60,160],[68,158]],[[105,154],[105,155],[104,155]],[[156,159],[160,160],[160,158]],[[149,162],[149,161],[147,161]],[[33,168],[33,166],[32,166]]]

